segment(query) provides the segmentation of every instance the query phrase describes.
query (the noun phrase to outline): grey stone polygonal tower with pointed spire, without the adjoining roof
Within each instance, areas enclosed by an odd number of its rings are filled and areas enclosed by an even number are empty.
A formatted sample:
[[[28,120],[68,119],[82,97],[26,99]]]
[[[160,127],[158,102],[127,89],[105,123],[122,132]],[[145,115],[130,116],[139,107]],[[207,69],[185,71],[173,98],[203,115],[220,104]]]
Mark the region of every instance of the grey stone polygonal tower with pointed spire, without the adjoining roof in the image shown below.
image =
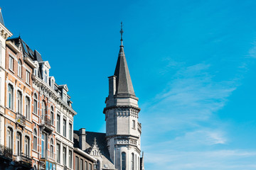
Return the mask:
[[[119,170],[139,169],[140,136],[138,122],[140,108],[132,86],[127,60],[124,55],[121,23],[121,45],[114,75],[109,77],[109,96],[105,113],[107,147],[110,158]]]

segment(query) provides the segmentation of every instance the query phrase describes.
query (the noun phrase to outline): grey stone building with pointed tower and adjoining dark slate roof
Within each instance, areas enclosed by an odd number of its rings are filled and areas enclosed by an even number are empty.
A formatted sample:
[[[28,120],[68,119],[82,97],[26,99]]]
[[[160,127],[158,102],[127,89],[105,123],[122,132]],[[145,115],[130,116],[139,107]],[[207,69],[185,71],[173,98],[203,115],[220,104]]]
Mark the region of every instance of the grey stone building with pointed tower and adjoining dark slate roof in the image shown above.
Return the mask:
[[[137,96],[134,93],[124,55],[121,23],[121,45],[114,75],[109,77],[109,95],[106,98],[106,133],[74,131],[75,146],[97,159],[95,169],[144,170],[141,157],[140,137],[142,124],[139,123]],[[80,136],[85,136],[83,139]],[[83,140],[82,140],[83,139]]]

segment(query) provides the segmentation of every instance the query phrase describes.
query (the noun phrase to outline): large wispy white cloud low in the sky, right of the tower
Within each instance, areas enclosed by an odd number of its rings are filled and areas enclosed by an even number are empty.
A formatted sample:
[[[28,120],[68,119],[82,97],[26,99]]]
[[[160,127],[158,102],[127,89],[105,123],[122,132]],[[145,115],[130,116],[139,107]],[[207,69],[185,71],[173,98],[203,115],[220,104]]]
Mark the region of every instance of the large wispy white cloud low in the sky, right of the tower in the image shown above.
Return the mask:
[[[173,62],[176,64],[176,62]],[[223,150],[229,137],[215,115],[240,85],[240,79],[217,81],[210,64],[180,69],[166,89],[143,106],[142,136],[150,169],[254,169],[256,152]],[[150,141],[150,142],[147,142]],[[151,145],[154,142],[154,145]],[[248,157],[248,161],[240,158]],[[237,162],[234,164],[234,162]]]

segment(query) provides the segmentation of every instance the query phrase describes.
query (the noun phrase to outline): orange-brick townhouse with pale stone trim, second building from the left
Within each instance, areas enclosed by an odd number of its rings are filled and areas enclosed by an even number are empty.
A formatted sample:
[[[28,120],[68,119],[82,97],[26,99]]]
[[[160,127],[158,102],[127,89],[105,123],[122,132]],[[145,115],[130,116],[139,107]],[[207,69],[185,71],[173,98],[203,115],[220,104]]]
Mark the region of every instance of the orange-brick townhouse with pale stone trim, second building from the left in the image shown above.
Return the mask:
[[[14,151],[15,169],[31,169],[31,74],[35,66],[31,57],[24,55],[22,45],[22,41],[6,40],[5,146]]]

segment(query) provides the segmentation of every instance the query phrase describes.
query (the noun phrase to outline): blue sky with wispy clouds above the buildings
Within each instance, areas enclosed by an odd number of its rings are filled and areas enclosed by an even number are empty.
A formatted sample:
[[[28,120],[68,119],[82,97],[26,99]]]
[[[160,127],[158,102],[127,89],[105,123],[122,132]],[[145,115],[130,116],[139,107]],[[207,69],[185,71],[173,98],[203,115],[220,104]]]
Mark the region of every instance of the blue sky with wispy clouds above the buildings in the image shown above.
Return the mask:
[[[145,167],[256,169],[256,1],[2,1],[6,27],[68,84],[74,128],[105,132],[124,51]]]

